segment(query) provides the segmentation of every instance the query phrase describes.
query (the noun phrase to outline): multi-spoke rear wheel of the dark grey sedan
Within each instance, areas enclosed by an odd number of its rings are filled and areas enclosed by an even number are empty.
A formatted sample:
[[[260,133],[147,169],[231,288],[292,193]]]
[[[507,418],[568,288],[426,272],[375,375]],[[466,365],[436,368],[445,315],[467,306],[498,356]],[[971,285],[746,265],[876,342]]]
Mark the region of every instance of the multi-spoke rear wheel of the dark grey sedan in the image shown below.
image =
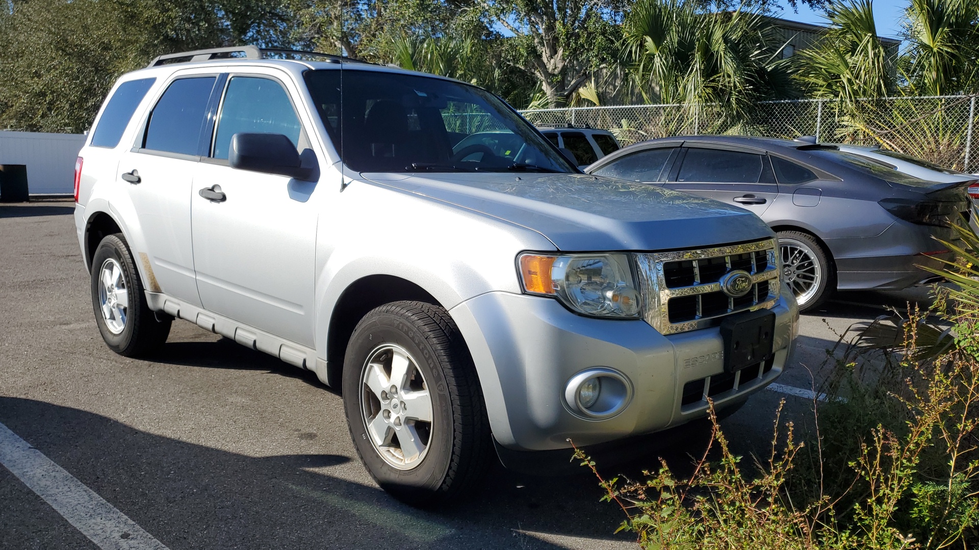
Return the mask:
[[[829,254],[812,235],[779,231],[778,253],[782,280],[799,302],[799,311],[811,311],[836,292],[836,269]]]

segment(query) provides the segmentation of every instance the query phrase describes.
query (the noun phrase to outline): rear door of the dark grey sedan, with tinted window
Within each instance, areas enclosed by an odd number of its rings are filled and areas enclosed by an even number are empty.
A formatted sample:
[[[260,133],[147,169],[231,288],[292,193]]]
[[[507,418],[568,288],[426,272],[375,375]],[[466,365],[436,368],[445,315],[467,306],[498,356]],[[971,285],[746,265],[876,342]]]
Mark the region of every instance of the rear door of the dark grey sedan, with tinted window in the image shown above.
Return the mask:
[[[768,155],[724,146],[684,146],[665,187],[715,199],[761,216],[778,196]]]

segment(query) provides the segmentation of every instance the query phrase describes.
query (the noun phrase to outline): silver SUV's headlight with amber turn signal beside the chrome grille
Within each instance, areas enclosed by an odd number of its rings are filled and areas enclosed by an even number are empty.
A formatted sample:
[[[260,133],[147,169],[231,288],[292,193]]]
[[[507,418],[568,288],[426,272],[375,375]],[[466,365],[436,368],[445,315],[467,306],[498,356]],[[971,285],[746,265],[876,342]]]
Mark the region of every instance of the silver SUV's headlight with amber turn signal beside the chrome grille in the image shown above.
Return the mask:
[[[546,255],[518,258],[524,291],[558,298],[593,317],[639,317],[639,293],[624,253]]]

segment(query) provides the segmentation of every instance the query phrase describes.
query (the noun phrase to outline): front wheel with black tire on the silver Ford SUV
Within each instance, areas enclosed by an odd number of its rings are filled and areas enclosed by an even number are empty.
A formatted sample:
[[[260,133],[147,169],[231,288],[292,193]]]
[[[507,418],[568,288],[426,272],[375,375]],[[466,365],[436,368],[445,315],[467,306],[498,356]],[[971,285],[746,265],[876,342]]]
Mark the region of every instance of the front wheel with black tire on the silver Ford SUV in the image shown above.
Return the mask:
[[[413,506],[474,489],[491,453],[469,350],[442,307],[396,301],[357,324],[344,359],[344,408],[375,481]]]

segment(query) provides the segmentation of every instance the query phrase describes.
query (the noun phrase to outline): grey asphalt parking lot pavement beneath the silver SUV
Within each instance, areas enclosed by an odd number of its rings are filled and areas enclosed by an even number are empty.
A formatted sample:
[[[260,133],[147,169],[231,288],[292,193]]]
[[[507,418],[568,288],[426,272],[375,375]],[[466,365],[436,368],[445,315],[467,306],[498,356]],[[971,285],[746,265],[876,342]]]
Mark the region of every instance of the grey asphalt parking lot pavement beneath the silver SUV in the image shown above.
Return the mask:
[[[132,528],[113,534],[116,543],[82,534],[101,520],[44,492],[73,486],[172,550],[635,547],[629,534],[614,534],[621,511],[599,502],[586,474],[494,466],[486,486],[451,509],[396,502],[359,463],[336,391],[196,325],[175,321],[152,361],[113,353],[93,320],[72,211],[70,202],[0,206],[0,424],[31,460],[77,481],[53,483],[62,478],[43,472],[22,481],[0,468],[0,548],[148,547]],[[816,388],[838,333],[909,298],[926,293],[840,295],[804,315],[778,383]],[[769,444],[783,398],[805,422],[810,399],[762,391],[723,421],[737,452]],[[0,434],[0,447],[10,440]],[[664,452],[685,463],[702,444],[691,435]],[[616,472],[636,477],[644,467],[655,468],[655,456]]]

